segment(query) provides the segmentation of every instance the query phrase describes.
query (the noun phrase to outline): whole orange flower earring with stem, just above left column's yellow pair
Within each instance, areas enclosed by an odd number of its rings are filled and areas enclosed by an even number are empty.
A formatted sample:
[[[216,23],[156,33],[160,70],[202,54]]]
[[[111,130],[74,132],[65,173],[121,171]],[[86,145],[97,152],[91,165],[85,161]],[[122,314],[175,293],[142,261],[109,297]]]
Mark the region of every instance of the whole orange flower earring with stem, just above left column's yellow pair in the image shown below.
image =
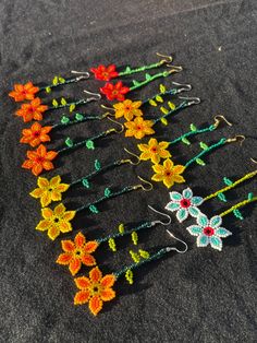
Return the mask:
[[[95,141],[99,140],[100,138],[105,138],[109,134],[121,133],[124,131],[123,125],[117,122],[111,118],[108,119],[118,123],[121,127],[121,129],[118,130],[115,128],[111,128],[94,137],[81,140],[78,142],[73,142],[70,138],[66,138],[65,146],[60,147],[56,151],[53,150],[48,151],[44,144],[40,144],[35,151],[32,150],[27,151],[26,153],[27,159],[25,159],[25,162],[22,164],[22,167],[32,170],[32,174],[38,176],[42,173],[42,170],[54,169],[52,161],[60,156],[60,154],[66,153],[68,151],[72,151],[82,146],[86,146],[88,150],[95,150]]]

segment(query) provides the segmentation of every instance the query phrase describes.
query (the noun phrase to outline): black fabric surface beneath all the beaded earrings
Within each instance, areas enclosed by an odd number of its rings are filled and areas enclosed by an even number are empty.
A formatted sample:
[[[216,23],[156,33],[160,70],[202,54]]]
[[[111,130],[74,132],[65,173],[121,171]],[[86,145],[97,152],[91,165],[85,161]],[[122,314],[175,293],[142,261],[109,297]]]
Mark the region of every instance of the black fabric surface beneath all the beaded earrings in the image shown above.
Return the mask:
[[[186,240],[185,255],[171,253],[135,272],[135,283],[115,285],[117,298],[105,304],[94,318],[87,306],[73,306],[74,282],[64,267],[54,263],[61,252],[60,238],[50,241],[34,227],[40,220],[39,202],[28,196],[36,179],[21,168],[27,146],[19,143],[22,120],[14,116],[16,104],[8,93],[16,82],[51,81],[54,74],[69,76],[70,70],[88,70],[98,63],[131,64],[156,61],[155,52],[172,54],[174,64],[184,71],[163,81],[191,83],[187,94],[199,96],[200,105],[187,108],[158,126],[159,139],[173,139],[196,126],[211,123],[217,114],[233,122],[211,134],[199,135],[193,144],[172,150],[174,159],[183,163],[199,151],[198,142],[215,142],[221,137],[244,134],[242,146],[228,144],[210,154],[205,167],[194,166],[186,174],[195,193],[208,194],[223,187],[223,176],[236,179],[256,166],[256,1],[33,1],[0,2],[1,46],[1,342],[256,342],[256,209],[242,210],[244,221],[233,215],[224,218],[233,236],[224,240],[222,252],[197,248],[195,237],[173,217],[169,226]],[[140,79],[140,75],[138,75]],[[100,82],[86,81],[63,87],[58,94],[83,97],[83,88],[96,90]],[[144,98],[158,91],[154,82],[135,92]],[[52,95],[51,95],[52,96]],[[48,97],[50,98],[50,97]],[[82,111],[99,114],[97,104]],[[53,122],[63,111],[46,115]],[[150,115],[150,113],[149,113]],[[111,127],[107,121],[74,126],[54,135],[60,146],[68,135],[82,139]],[[147,139],[145,140],[147,141]],[[122,134],[99,141],[91,152],[79,149],[63,155],[57,168],[45,174],[63,176],[66,182],[89,173],[96,158],[108,163],[136,152],[134,139]],[[75,191],[64,203],[69,209],[93,201],[103,189],[137,184],[137,175],[150,178],[148,163],[137,167],[122,166],[98,177],[90,191]],[[184,185],[174,189],[182,190]],[[228,194],[230,203],[256,191],[252,180]],[[97,238],[117,229],[119,223],[136,224],[156,220],[148,204],[163,210],[169,201],[167,188],[155,184],[155,190],[135,191],[105,202],[97,215],[82,213],[74,221],[74,232],[83,229]],[[219,213],[229,204],[217,199],[204,210]],[[74,237],[63,235],[63,237]],[[62,238],[63,238],[62,237]],[[115,255],[107,248],[96,257],[105,272],[131,262],[128,239],[121,240]],[[139,234],[139,247],[149,251],[175,245],[157,226]],[[179,246],[178,246],[179,247]]]

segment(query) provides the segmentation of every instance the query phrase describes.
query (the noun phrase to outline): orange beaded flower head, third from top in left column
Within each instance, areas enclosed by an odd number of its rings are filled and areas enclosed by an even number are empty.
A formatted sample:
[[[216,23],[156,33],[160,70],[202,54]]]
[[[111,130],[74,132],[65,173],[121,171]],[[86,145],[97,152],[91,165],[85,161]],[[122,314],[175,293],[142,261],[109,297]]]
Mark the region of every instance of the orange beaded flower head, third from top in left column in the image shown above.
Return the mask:
[[[22,130],[23,137],[20,142],[29,144],[35,147],[42,142],[50,142],[51,139],[47,134],[51,131],[52,127],[42,127],[39,122],[34,122],[29,129]]]

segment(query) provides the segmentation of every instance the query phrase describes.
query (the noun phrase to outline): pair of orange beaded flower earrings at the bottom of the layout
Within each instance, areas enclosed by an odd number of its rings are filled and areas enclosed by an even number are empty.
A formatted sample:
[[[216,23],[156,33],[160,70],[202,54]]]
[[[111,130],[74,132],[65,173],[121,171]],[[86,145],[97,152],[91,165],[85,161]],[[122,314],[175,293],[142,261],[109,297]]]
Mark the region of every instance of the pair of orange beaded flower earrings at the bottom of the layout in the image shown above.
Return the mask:
[[[115,251],[115,241],[120,237],[132,236],[132,240],[135,244],[137,239],[137,233],[142,229],[148,229],[156,225],[169,225],[171,223],[171,217],[164,213],[161,213],[154,208],[149,206],[156,213],[162,214],[168,217],[168,222],[162,222],[160,220],[146,221],[140,225],[126,229],[124,224],[119,225],[119,233],[108,235],[94,240],[87,240],[85,235],[79,232],[76,234],[74,240],[68,239],[62,240],[61,246],[63,252],[57,259],[57,263],[69,267],[71,274],[74,276],[81,271],[82,265],[87,268],[93,268],[88,275],[83,275],[74,279],[75,285],[78,292],[74,296],[74,305],[88,304],[88,308],[94,316],[97,316],[103,306],[105,301],[113,300],[117,296],[113,289],[114,284],[119,279],[125,276],[128,284],[133,284],[134,270],[138,269],[143,264],[149,263],[151,261],[158,260],[164,257],[171,251],[178,253],[184,253],[187,251],[187,244],[179,238],[176,238],[170,230],[167,229],[168,234],[184,245],[184,249],[178,249],[176,247],[167,246],[157,251],[149,253],[146,250],[138,250],[138,253],[131,252],[134,260],[133,263],[121,268],[120,270],[113,271],[107,275],[102,275],[97,261],[93,256],[94,252],[99,248],[100,245],[108,243],[112,251]]]

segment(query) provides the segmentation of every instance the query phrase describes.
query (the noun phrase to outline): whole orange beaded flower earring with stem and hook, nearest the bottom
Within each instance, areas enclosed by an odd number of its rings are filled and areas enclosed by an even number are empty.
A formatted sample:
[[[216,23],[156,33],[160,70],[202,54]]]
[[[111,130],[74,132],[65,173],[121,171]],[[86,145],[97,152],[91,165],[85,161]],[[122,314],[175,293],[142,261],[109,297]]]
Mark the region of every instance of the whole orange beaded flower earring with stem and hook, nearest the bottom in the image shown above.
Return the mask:
[[[90,270],[89,277],[83,275],[74,279],[75,285],[78,288],[78,292],[74,296],[74,305],[88,304],[90,312],[94,316],[97,316],[101,311],[105,301],[110,301],[115,298],[117,294],[112,287],[121,276],[124,275],[126,281],[132,284],[133,271],[137,270],[143,264],[158,260],[171,251],[185,253],[188,249],[187,244],[184,240],[176,238],[170,230],[167,229],[167,232],[173,239],[183,244],[185,248],[180,250],[172,246],[163,247],[156,252],[148,253],[147,256],[144,255],[137,262],[125,265],[118,271],[106,274],[105,276],[100,269],[95,267]]]

